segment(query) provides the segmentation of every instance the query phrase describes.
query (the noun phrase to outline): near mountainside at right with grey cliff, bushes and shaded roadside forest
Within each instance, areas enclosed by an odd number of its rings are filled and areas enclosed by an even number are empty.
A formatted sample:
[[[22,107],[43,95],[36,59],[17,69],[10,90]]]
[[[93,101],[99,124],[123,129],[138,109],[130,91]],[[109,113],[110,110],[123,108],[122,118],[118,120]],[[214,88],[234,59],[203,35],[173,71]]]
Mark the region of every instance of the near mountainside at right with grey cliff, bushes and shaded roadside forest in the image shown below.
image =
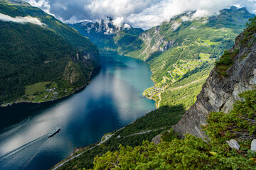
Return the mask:
[[[55,168],[255,169],[255,51],[256,17],[215,62],[181,120],[182,105],[161,106],[97,144],[75,149]]]

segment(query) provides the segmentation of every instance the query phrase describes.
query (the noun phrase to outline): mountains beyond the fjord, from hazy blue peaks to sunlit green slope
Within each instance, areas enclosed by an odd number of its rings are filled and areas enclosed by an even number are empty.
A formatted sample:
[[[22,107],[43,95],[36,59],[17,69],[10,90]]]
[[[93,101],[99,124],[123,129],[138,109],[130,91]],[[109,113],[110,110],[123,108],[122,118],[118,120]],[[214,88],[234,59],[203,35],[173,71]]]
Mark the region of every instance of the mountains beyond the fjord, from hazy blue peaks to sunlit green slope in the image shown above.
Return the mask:
[[[114,26],[112,18],[97,22],[70,24],[100,48],[146,61],[156,83],[144,96],[156,107],[193,105],[215,60],[233,46],[235,37],[254,15],[246,8],[231,6],[218,15],[194,17],[188,11],[149,30],[123,24]]]

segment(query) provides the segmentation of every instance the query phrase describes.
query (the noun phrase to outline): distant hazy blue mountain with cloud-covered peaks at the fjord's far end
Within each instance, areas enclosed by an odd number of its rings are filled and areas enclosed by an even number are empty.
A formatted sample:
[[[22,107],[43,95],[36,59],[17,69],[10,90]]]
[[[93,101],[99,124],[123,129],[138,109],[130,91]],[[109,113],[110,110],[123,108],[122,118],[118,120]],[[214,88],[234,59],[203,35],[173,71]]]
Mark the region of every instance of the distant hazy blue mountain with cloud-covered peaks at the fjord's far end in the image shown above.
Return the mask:
[[[75,28],[85,37],[99,47],[103,53],[119,53],[134,50],[127,48],[131,42],[135,42],[142,28],[133,28],[127,23],[120,26],[114,25],[112,18],[99,19],[95,22],[85,21],[81,23],[69,23],[69,26]]]

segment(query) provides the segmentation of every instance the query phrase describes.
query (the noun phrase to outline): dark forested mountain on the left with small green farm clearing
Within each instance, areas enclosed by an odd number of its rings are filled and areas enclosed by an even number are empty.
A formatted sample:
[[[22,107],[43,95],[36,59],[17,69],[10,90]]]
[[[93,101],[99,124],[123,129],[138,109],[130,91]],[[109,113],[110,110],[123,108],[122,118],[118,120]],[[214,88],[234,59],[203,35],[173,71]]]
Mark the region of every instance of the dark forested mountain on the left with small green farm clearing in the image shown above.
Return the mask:
[[[90,82],[97,46],[24,1],[0,1],[0,104],[49,101]]]

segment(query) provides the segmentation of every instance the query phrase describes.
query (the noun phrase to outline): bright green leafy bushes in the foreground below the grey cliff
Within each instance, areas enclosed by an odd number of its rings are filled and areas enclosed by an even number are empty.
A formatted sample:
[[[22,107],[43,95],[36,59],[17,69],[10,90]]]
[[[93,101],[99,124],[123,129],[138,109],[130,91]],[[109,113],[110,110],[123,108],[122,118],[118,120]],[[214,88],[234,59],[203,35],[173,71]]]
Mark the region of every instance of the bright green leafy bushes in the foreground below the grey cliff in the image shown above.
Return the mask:
[[[208,139],[187,134],[179,140],[172,133],[171,141],[159,145],[149,141],[137,147],[120,145],[117,151],[95,157],[93,169],[255,169],[256,153],[250,142],[256,137],[256,91],[240,97],[245,101],[237,101],[230,113],[209,114],[203,127]],[[225,142],[234,138],[239,150]]]

